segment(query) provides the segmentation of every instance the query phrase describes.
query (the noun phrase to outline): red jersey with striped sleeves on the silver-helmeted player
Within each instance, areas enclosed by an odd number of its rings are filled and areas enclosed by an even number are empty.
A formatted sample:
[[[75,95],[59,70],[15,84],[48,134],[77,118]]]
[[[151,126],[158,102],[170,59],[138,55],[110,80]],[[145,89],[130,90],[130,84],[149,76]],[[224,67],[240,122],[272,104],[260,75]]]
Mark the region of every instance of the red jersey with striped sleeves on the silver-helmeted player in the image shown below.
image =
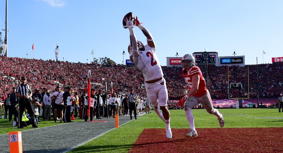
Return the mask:
[[[192,77],[195,74],[199,75],[199,84],[198,84],[198,91],[193,94],[193,96],[200,97],[203,96],[206,93],[206,84],[205,80],[203,78],[203,74],[200,71],[199,67],[193,66],[191,68],[183,68],[182,70],[183,77],[185,78],[185,81],[187,85],[189,86],[189,90],[192,88]]]

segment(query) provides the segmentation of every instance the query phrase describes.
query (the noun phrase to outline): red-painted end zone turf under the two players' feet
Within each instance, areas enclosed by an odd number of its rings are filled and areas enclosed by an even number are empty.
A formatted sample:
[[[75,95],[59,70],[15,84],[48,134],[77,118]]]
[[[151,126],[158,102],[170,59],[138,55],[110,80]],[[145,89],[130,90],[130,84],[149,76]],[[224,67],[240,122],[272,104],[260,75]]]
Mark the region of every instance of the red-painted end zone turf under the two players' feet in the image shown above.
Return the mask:
[[[129,153],[183,152],[283,152],[283,128],[205,128],[196,129],[198,137],[187,138],[189,129],[144,129]]]

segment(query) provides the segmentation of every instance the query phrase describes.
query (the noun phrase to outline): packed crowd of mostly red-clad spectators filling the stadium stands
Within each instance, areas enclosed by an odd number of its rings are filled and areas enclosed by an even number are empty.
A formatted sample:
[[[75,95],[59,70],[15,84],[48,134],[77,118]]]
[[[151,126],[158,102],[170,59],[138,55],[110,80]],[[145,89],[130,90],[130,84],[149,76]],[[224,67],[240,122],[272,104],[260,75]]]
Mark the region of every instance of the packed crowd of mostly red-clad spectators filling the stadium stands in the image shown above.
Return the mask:
[[[260,98],[278,97],[283,91],[279,85],[283,81],[283,64],[260,64],[239,66],[209,65],[199,66],[205,80],[208,81],[208,90],[213,99],[227,99],[234,97]],[[229,68],[229,77],[228,77]],[[129,89],[135,89],[136,94],[146,97],[146,91],[141,87],[144,83],[142,73],[137,67],[124,65],[100,65],[87,63],[72,63],[54,60],[26,59],[19,57],[0,57],[0,96],[5,97],[12,87],[17,87],[21,76],[27,77],[28,84],[34,89],[47,88],[54,91],[58,83],[62,86],[72,86],[75,91],[87,88],[87,72],[91,70],[91,87],[102,89],[100,86],[107,82],[108,91],[113,83],[113,90],[117,94],[124,94]],[[168,97],[179,100],[183,96],[186,83],[182,75],[182,67],[162,66],[167,81]],[[208,72],[208,73],[207,73]],[[207,75],[208,74],[208,75]],[[104,79],[103,79],[104,78]],[[242,88],[228,88],[230,82],[241,82]],[[248,82],[250,82],[248,84]],[[259,88],[259,91],[257,89]],[[250,93],[250,94],[249,94]],[[5,99],[5,98],[4,98]]]

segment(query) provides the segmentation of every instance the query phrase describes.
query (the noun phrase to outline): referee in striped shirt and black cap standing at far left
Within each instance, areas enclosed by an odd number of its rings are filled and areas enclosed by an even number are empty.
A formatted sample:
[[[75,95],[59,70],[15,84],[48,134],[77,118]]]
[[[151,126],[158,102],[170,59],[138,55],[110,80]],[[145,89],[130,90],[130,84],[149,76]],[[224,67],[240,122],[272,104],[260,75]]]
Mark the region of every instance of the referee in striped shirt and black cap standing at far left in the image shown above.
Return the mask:
[[[15,96],[19,97],[19,124],[18,128],[23,128],[23,124],[20,124],[23,117],[23,111],[26,108],[28,111],[28,114],[31,118],[32,125],[34,128],[37,128],[38,126],[35,124],[34,115],[33,115],[33,108],[31,103],[31,96],[32,91],[30,89],[30,86],[27,84],[27,78],[24,76],[21,78],[21,84],[18,85]]]

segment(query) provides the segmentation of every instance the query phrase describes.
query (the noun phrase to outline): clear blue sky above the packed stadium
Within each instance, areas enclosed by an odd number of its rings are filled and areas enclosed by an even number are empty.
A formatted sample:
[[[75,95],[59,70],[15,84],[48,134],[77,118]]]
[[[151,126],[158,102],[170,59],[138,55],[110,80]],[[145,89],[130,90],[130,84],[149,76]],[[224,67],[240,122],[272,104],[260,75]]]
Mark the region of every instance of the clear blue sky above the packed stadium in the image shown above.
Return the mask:
[[[55,59],[58,44],[61,61],[90,62],[94,50],[94,57],[122,64],[129,44],[122,18],[133,12],[152,33],[162,66],[176,51],[183,56],[204,48],[219,56],[233,56],[235,50],[246,65],[256,64],[256,57],[271,63],[272,57],[283,57],[282,6],[280,0],[9,0],[8,57],[26,58],[28,52],[28,58]],[[0,7],[0,29],[5,29],[5,0]],[[142,32],[134,31],[146,43]]]

